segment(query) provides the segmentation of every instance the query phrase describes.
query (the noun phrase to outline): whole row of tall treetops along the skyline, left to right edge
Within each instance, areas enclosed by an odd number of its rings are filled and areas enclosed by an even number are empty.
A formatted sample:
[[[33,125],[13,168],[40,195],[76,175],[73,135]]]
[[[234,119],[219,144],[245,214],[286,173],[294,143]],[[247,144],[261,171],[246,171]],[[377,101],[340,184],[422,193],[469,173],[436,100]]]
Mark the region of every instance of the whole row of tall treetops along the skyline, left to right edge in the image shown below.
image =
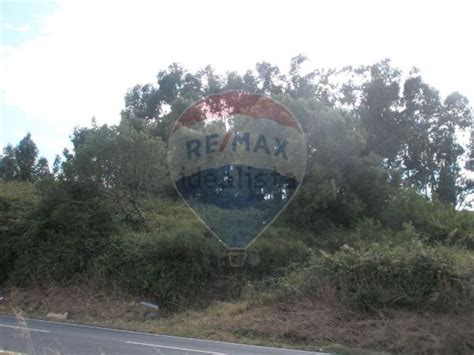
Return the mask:
[[[151,137],[166,143],[170,126],[180,113],[206,95],[235,89],[271,95],[288,105],[307,129],[310,161],[320,156],[323,163],[338,160],[341,167],[340,158],[344,157],[337,155],[341,153],[328,150],[338,144],[347,151],[355,149],[361,158],[378,159],[385,180],[398,187],[411,187],[446,205],[464,206],[466,196],[474,191],[473,181],[463,173],[471,166],[468,152],[472,147],[460,142],[462,133],[468,134],[472,126],[466,97],[454,92],[441,98],[416,69],[402,80],[401,71],[388,60],[302,74],[305,61],[301,55],[293,58],[286,74],[263,62],[243,75],[229,72],[225,76],[215,74],[211,67],[190,73],[173,64],[158,73],[157,85],[137,85],[129,90],[121,123],[110,129],[147,129]],[[321,117],[315,117],[318,114]],[[324,124],[324,114],[331,116],[329,123],[318,127]],[[105,134],[98,127],[78,129],[74,149],[94,129]],[[33,181],[47,175],[48,162],[38,160],[37,154],[30,134],[16,147],[8,145],[0,161],[0,178]],[[63,158],[69,159],[69,154],[65,151]],[[60,169],[58,156],[54,172]]]

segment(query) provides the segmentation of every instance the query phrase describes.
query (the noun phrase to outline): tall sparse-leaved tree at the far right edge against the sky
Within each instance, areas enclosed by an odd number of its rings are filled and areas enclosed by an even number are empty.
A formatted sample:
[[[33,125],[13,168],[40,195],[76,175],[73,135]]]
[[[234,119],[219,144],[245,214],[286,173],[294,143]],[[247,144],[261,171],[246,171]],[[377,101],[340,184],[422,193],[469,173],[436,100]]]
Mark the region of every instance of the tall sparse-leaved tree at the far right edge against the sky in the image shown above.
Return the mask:
[[[459,93],[442,102],[439,92],[419,75],[406,80],[404,102],[406,139],[402,154],[407,181],[425,196],[435,193],[440,201],[455,207],[462,194],[458,183],[464,153],[457,135],[471,125],[469,102]]]

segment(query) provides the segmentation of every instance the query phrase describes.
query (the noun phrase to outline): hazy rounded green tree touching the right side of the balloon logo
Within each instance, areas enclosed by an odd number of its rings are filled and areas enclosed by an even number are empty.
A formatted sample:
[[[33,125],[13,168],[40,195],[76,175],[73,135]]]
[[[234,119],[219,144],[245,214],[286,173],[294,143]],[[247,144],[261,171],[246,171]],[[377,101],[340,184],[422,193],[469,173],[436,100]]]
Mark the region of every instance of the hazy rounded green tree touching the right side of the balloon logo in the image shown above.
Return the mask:
[[[377,217],[392,188],[382,158],[363,154],[366,136],[354,117],[315,98],[278,100],[300,120],[308,144],[305,182],[289,207],[289,220],[318,230]]]

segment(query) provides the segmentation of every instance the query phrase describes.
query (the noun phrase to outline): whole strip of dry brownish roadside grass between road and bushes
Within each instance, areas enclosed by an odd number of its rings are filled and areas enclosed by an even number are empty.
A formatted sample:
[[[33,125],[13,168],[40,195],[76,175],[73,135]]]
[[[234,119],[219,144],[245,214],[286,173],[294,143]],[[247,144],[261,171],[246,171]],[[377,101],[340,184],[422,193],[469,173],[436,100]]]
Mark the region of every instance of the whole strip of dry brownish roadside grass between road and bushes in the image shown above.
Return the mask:
[[[73,322],[162,334],[343,352],[474,352],[472,311],[366,314],[339,302],[330,288],[313,299],[257,297],[238,303],[216,302],[205,310],[161,313],[154,320],[146,318],[146,309],[137,303],[140,299],[97,288],[10,289],[5,296],[1,313],[21,310],[25,316],[44,318],[48,312],[68,311]]]

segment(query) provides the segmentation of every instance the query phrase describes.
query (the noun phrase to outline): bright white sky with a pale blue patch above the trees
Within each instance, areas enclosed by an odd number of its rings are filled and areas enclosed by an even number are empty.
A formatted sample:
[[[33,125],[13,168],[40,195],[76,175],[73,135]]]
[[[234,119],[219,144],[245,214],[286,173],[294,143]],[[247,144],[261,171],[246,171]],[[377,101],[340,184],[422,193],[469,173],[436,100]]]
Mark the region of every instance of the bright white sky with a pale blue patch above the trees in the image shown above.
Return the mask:
[[[50,162],[76,126],[119,122],[123,97],[178,62],[243,72],[391,58],[474,102],[472,1],[0,0],[0,149],[31,132]]]

